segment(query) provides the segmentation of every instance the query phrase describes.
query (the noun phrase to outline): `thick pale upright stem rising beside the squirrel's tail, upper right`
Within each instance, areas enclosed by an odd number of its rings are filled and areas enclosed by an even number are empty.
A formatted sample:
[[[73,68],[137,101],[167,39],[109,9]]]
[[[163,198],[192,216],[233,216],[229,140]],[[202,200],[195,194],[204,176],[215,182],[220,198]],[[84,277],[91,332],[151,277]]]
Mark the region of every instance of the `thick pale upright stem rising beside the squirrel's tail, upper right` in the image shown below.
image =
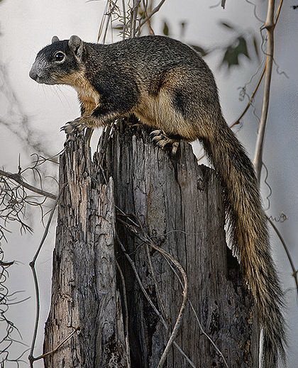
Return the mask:
[[[257,175],[258,182],[260,183],[260,174],[262,171],[263,164],[263,147],[265,140],[265,128],[267,123],[269,99],[270,99],[270,86],[272,77],[272,65],[273,65],[273,53],[274,53],[274,9],[275,0],[268,0],[267,7],[267,18],[265,21],[264,28],[267,30],[267,52],[266,52],[266,70],[265,70],[265,85],[264,85],[264,95],[263,95],[263,106],[262,114],[260,118],[260,125],[258,129],[258,137],[255,145],[255,158],[254,166],[255,173]]]

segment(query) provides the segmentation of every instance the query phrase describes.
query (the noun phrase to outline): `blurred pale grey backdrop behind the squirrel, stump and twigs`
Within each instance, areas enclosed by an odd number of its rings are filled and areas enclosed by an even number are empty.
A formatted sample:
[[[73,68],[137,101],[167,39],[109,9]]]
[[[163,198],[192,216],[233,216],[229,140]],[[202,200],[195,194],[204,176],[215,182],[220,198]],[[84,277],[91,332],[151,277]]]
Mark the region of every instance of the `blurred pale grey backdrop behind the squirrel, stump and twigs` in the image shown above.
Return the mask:
[[[158,1],[155,1],[158,4]],[[154,5],[156,5],[154,3]],[[166,0],[153,16],[151,26],[155,34],[170,35],[193,45],[204,56],[214,72],[223,114],[229,125],[238,120],[253,93],[265,59],[265,42],[260,27],[266,18],[267,1],[227,0],[225,9],[218,0]],[[63,149],[65,134],[60,126],[79,116],[79,104],[74,90],[68,87],[43,86],[33,82],[28,72],[36,53],[50,43],[53,35],[60,39],[79,35],[82,40],[96,42],[101,19],[106,11],[104,0],[23,0],[0,1],[0,168],[18,172],[18,167],[31,167],[23,177],[40,186],[38,171],[32,162],[39,157],[57,155]],[[279,1],[276,2],[278,6]],[[117,21],[114,32],[106,35],[106,43],[121,40]],[[143,34],[148,28],[143,28]],[[263,32],[263,36],[265,33]],[[265,135],[262,175],[262,195],[267,216],[271,216],[290,255],[298,267],[297,246],[297,165],[298,158],[298,1],[288,0],[282,6],[275,29],[275,63],[272,72],[270,107]],[[253,159],[263,99],[263,84],[241,123],[233,129]],[[96,132],[93,145],[100,132]],[[194,143],[194,152],[202,155]],[[37,153],[39,156],[33,155]],[[33,156],[32,156],[33,155]],[[296,162],[296,164],[295,164]],[[35,175],[35,177],[34,177]],[[43,187],[57,193],[57,165],[46,162],[40,167]],[[33,199],[32,199],[33,200]],[[31,201],[29,198],[28,201]],[[35,199],[34,199],[35,201]],[[6,318],[18,328],[13,332],[9,347],[10,363],[31,345],[35,320],[35,294],[31,269],[32,260],[44,232],[41,221],[53,206],[47,199],[43,205],[27,206],[26,224],[33,233],[20,231],[13,221],[5,224],[6,240],[1,239],[4,260],[15,260],[6,268],[9,278],[5,286],[12,294]],[[1,223],[4,226],[4,223]],[[297,290],[289,260],[274,232],[272,250],[285,290],[289,325],[288,368],[298,366]],[[40,285],[40,325],[35,356],[42,353],[43,328],[50,306],[52,252],[55,244],[55,221],[38,257],[36,269]],[[27,299],[28,298],[28,299]],[[22,303],[17,303],[22,301]],[[0,321],[0,339],[6,335],[6,322]],[[21,336],[20,336],[21,335]],[[7,346],[10,340],[2,341]],[[6,346],[5,345],[5,346]],[[4,350],[4,345],[1,346]],[[19,367],[26,367],[25,352]],[[0,362],[4,353],[0,355]],[[36,368],[43,367],[41,361]],[[1,366],[2,367],[2,366]]]

